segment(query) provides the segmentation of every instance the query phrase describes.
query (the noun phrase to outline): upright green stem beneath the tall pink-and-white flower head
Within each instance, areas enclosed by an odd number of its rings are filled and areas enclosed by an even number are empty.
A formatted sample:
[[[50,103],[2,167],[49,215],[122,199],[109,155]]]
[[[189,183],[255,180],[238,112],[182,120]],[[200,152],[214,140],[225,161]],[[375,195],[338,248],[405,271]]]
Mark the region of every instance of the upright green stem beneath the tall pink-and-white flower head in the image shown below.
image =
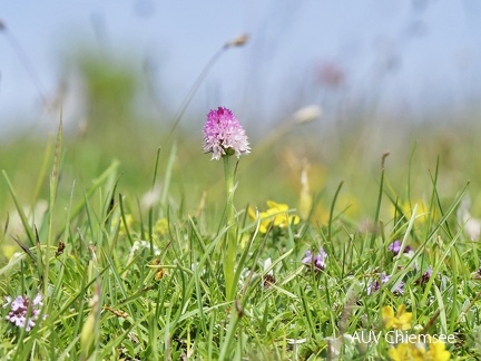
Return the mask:
[[[227,212],[227,233],[226,233],[226,245],[227,245],[227,256],[224,263],[224,276],[226,281],[226,297],[228,301],[235,299],[235,276],[234,266],[236,261],[236,240],[235,240],[235,216],[234,216],[234,172],[230,167],[230,156],[226,155],[224,159],[224,175],[226,182],[226,212]]]

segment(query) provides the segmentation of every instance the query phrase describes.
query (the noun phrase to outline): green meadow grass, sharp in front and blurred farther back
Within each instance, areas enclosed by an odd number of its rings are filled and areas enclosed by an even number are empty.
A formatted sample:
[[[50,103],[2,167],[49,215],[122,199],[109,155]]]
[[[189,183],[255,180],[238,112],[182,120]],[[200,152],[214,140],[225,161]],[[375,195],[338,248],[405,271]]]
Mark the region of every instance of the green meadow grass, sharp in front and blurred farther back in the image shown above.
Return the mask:
[[[61,131],[45,145],[26,142],[17,152],[11,145],[3,153],[10,158],[2,156],[0,293],[41,293],[47,316],[26,332],[4,321],[3,308],[0,357],[379,360],[387,358],[387,341],[355,336],[386,333],[382,308],[405,304],[411,333],[453,335],[452,358],[481,358],[479,245],[457,216],[469,184],[462,165],[452,175],[443,154],[423,154],[424,144],[410,145],[395,165],[385,158],[384,167],[382,154],[371,166],[362,153],[352,159],[342,149],[322,162],[313,152],[310,215],[264,234],[249,205],[264,211],[273,199],[300,214],[302,167],[288,160],[295,136],[264,154],[253,145],[240,158],[233,232],[239,283],[232,302],[223,270],[229,232],[223,166],[202,154],[199,139],[178,137],[158,148],[147,137],[137,159],[127,134],[119,135],[127,149]],[[31,159],[21,162],[28,153]],[[32,215],[40,202],[45,209]],[[412,252],[394,256],[387,250],[394,241]],[[327,258],[316,272],[302,260],[320,247]],[[429,266],[432,276],[419,283]],[[383,272],[391,279],[369,294]],[[395,291],[400,282],[403,294]]]

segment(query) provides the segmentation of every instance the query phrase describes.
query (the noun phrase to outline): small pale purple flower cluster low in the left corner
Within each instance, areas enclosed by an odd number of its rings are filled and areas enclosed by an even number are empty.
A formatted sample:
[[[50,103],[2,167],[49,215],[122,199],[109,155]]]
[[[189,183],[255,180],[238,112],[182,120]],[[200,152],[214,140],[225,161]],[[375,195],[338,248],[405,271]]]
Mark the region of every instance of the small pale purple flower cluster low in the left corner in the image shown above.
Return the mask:
[[[28,297],[18,296],[17,299],[11,300],[11,297],[6,296],[7,303],[3,305],[3,309],[10,305],[10,312],[6,316],[7,321],[16,324],[18,328],[24,328],[26,331],[30,331],[31,328],[35,326],[35,321],[38,320],[40,314],[40,309],[43,305],[42,295],[39,293],[33,301]],[[27,311],[31,308],[30,316],[27,319]],[[43,315],[43,319],[46,315]]]

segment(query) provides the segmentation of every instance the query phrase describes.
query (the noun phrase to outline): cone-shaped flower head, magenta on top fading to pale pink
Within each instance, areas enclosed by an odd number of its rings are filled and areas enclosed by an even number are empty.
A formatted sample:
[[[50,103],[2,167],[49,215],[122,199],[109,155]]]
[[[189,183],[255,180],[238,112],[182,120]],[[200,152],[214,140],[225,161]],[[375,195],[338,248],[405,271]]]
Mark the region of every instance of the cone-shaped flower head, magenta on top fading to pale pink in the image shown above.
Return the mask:
[[[248,154],[247,136],[234,114],[223,107],[210,110],[204,126],[204,152],[213,153],[212,159],[235,154]]]

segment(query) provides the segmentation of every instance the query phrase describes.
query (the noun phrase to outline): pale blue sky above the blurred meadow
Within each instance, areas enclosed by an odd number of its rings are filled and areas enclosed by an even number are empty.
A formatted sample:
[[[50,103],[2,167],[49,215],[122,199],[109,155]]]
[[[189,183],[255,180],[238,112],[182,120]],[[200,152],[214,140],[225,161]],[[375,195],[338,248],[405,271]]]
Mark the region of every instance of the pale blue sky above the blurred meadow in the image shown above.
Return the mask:
[[[328,91],[315,81],[324,64],[343,70],[352,97],[412,109],[446,101],[462,108],[481,90],[480,3],[3,1],[0,19],[8,33],[0,37],[0,126],[37,121],[41,94],[55,94],[62,58],[80,42],[128,53],[139,68],[148,59],[175,111],[212,56],[240,33],[251,42],[223,55],[189,106],[192,114],[223,105],[239,116],[273,119],[311,103],[328,107]],[[392,70],[382,70],[387,65]]]

